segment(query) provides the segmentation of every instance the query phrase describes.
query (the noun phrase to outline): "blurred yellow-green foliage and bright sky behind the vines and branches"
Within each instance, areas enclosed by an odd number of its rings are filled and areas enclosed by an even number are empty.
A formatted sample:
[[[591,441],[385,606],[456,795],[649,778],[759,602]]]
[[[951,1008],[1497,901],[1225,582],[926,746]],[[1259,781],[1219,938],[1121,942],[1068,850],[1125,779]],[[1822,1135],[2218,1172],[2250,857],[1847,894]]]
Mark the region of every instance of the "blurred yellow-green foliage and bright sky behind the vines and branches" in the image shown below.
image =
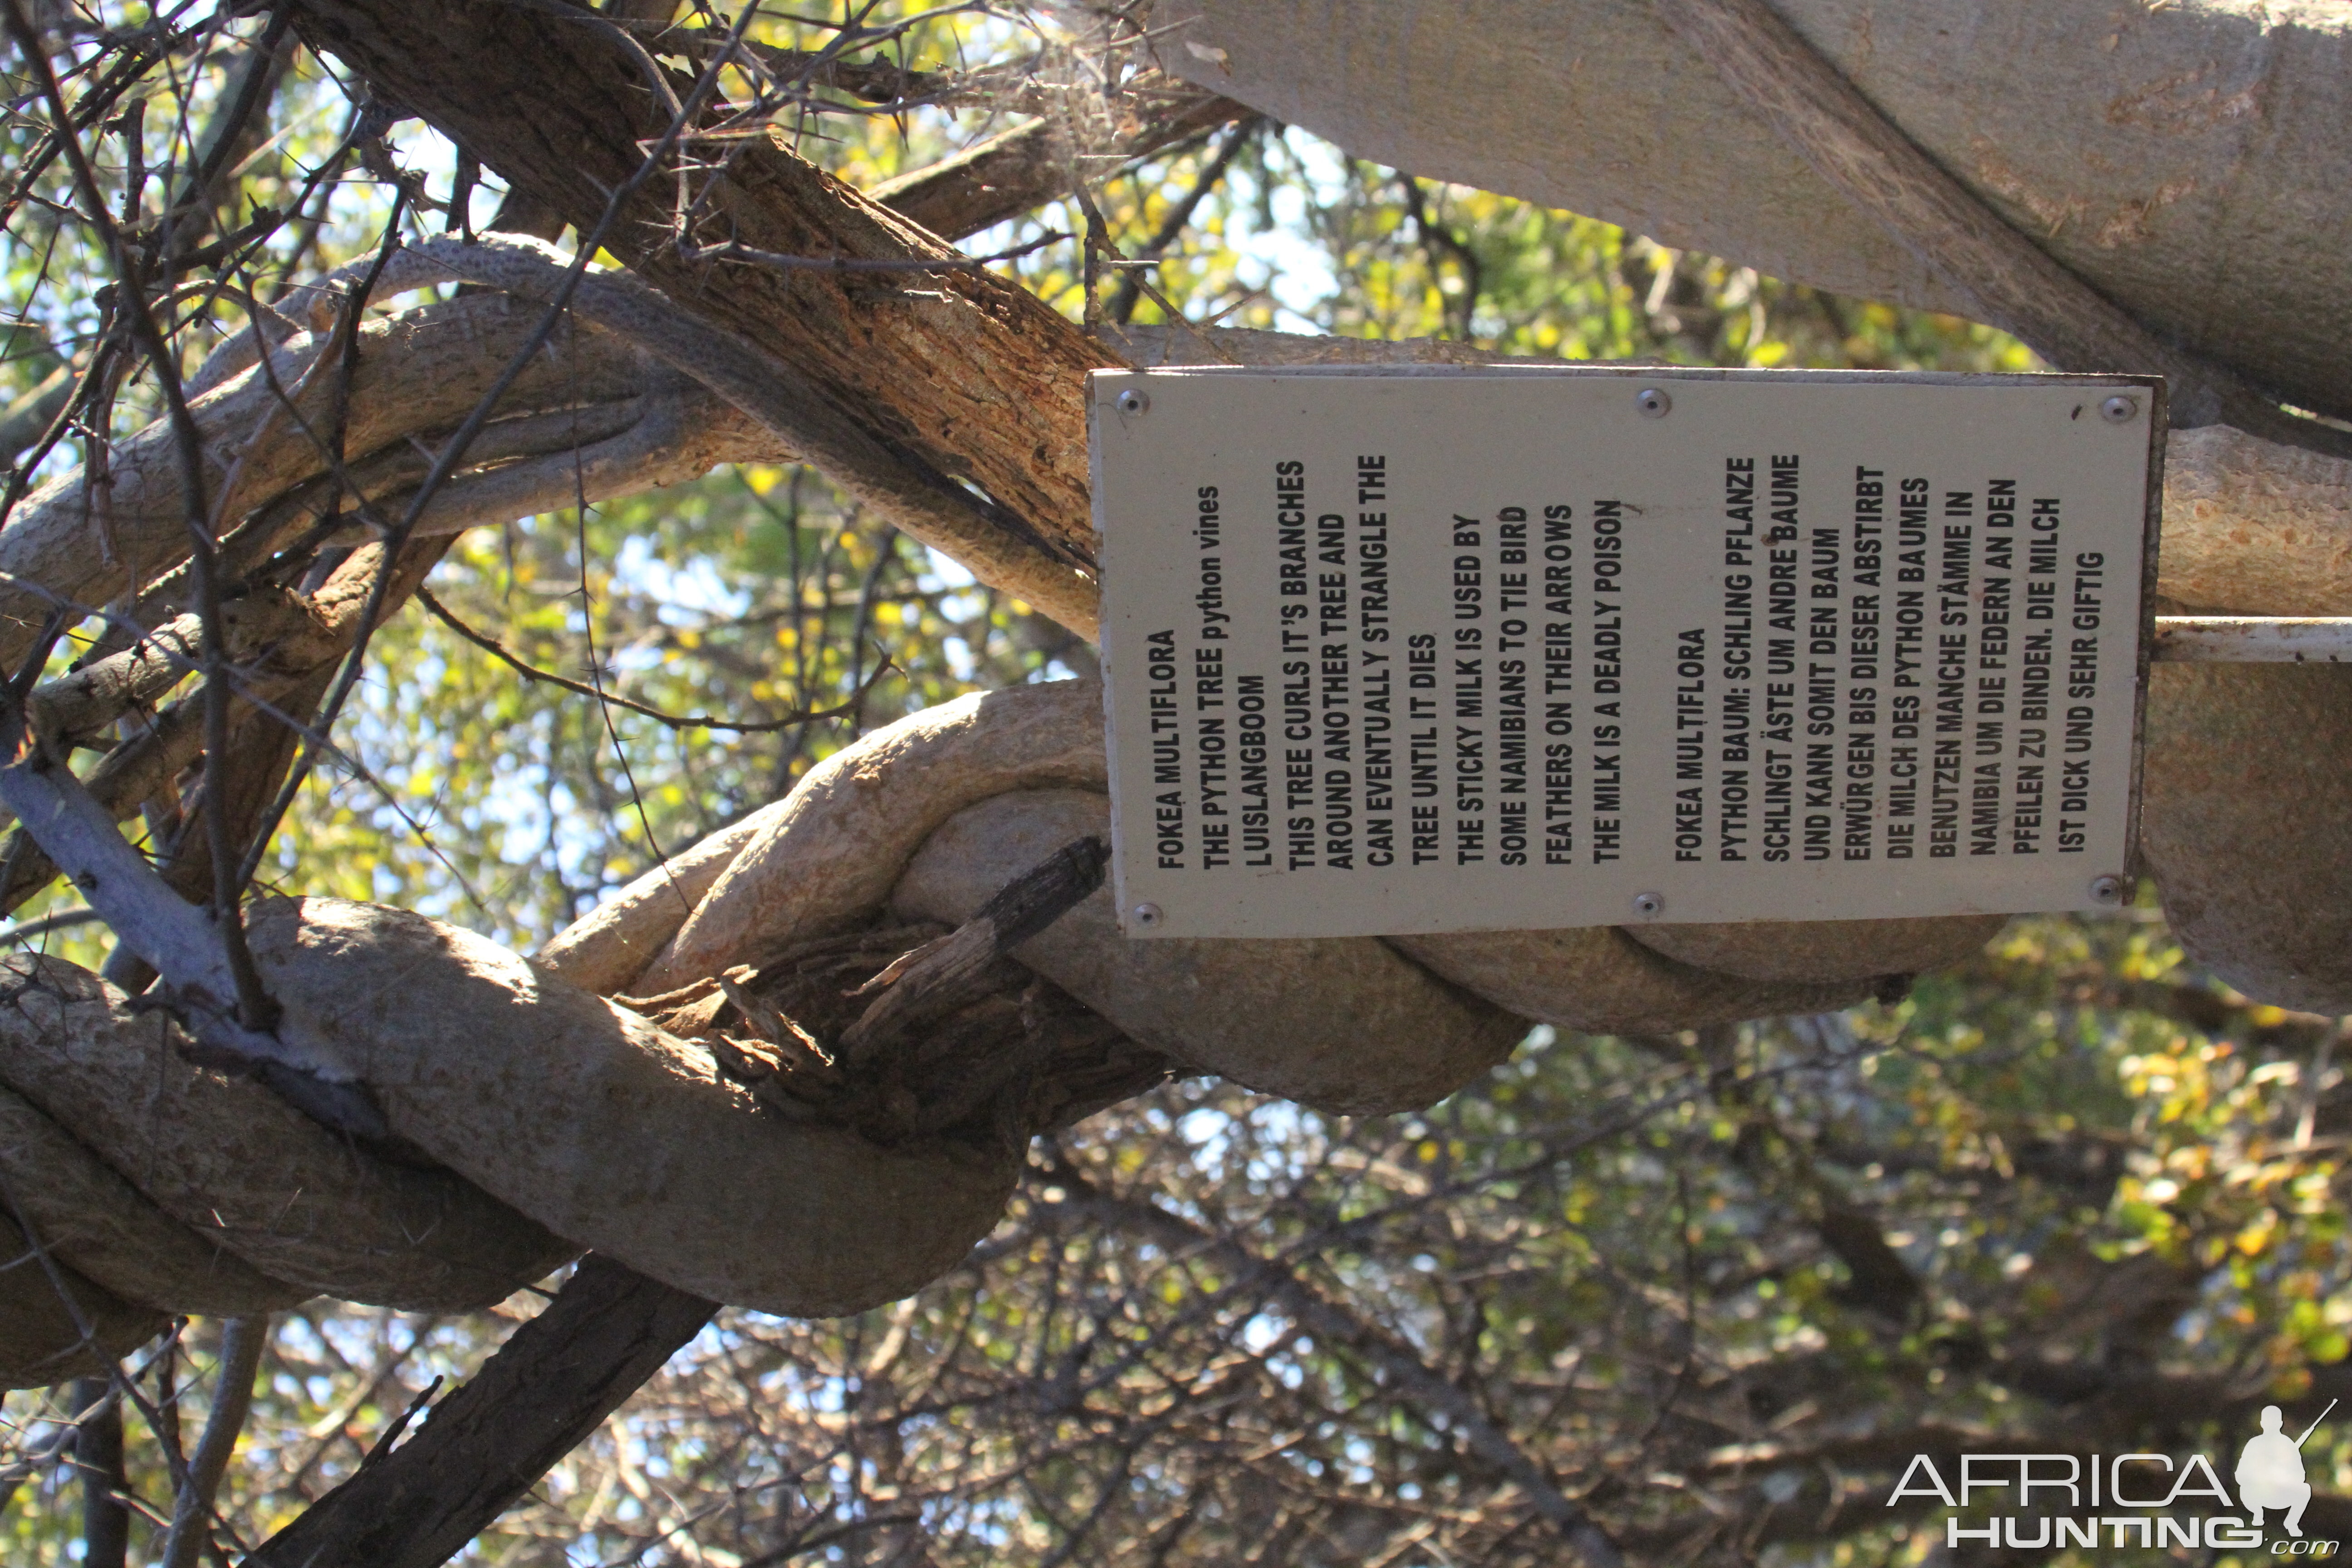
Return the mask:
[[[1009,12],[894,0],[861,7],[858,26],[922,68],[1040,40],[1040,71],[1065,63],[1058,35]],[[755,38],[821,47],[835,31],[767,19]],[[111,122],[111,179],[132,139],[148,169],[186,162],[249,63],[233,35],[207,38],[148,78],[141,120]],[[0,122],[12,167],[35,141],[21,87]],[[318,59],[285,63],[268,136],[223,197],[303,214],[252,261],[263,296],[372,249],[386,176],[452,193],[454,148],[402,122],[369,169],[360,115]],[[1007,122],[981,101],[786,132],[873,186]],[[35,181],[0,247],[9,404],[99,331],[103,268],[42,190],[64,195]],[[470,221],[487,226],[499,197],[477,188]],[[1127,254],[1162,256],[1160,299],[1192,322],[1569,360],[2032,364],[1983,327],[1792,287],[1265,122],[1152,158],[1098,205]],[[445,221],[405,219],[419,235]],[[1082,230],[1080,212],[1044,209],[969,249]],[[1075,242],[1011,270],[1082,315]],[[1115,284],[1103,296],[1120,320],[1167,315]],[[242,320],[228,296],[205,310],[219,329]],[[127,388],[113,435],[153,414],[151,390]],[[56,451],[45,473],[78,458]],[[477,531],[433,592],[532,665],[663,710],[760,722],[849,705],[776,733],[673,729],[520,679],[407,611],[346,719],[355,766],[313,780],[266,875],[524,950],[870,726],[1091,670],[1065,632],[802,468]],[[19,924],[59,912],[71,893]],[[94,961],[99,931],[26,940]],[[1510,1067],[1423,1117],[1334,1121],[1174,1084],[1040,1145],[1000,1232],[922,1295],[835,1324],[722,1314],[473,1559],[1555,1561],[1519,1455],[1642,1561],[1929,1561],[1940,1540],[1882,1507],[1889,1467],[1915,1450],[2234,1453],[2265,1399],[2352,1392],[2338,1039],[2338,1020],[2246,1006],[2187,969],[2143,907],[2020,919],[1978,961],[1842,1016],[1672,1039],[1538,1027]],[[501,1319],[534,1309],[522,1295],[475,1319],[287,1314],[223,1495],[235,1533],[285,1523],[430,1380],[489,1354]],[[216,1347],[219,1326],[193,1321],[146,1373],[188,1429]],[[64,1406],[64,1392],[9,1394],[0,1441],[40,1450]],[[2307,1448],[2328,1493],[2352,1486],[2343,1429]],[[7,1559],[80,1561],[71,1465],[19,1472]],[[136,1420],[127,1474],[141,1514],[169,1512],[158,1436]],[[134,1561],[155,1540],[136,1526]]]

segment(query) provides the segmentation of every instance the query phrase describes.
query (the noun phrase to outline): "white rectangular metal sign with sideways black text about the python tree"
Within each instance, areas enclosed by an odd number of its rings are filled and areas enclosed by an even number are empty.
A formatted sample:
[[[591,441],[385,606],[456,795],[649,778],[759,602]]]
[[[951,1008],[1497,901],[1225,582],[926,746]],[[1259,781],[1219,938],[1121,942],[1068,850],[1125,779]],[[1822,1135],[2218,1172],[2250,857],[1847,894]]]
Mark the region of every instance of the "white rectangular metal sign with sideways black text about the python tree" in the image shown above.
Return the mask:
[[[2089,376],[1098,371],[1122,922],[2112,903],[2159,421]]]

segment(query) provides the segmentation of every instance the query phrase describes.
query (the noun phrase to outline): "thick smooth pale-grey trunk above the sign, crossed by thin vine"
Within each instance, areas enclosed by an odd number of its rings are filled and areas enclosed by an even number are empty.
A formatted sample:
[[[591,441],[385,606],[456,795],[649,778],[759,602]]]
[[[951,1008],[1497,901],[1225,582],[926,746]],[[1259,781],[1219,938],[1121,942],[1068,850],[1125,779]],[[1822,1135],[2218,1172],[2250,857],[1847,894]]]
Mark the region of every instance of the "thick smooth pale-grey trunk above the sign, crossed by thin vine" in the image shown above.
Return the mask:
[[[2352,9],[1776,0],[1978,197],[2159,336],[2352,411]],[[1778,277],[1966,301],[1646,0],[1160,0],[1160,61],[1414,174]]]

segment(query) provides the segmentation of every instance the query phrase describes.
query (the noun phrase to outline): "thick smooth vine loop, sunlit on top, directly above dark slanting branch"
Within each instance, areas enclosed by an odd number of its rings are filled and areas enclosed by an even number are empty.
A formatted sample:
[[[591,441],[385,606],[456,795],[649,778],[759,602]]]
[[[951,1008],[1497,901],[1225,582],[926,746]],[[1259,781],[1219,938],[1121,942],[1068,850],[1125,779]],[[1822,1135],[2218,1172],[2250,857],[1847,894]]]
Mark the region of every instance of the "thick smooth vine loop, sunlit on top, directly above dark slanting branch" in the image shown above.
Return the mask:
[[[306,898],[249,926],[280,1032],[325,1077],[362,1079],[400,1138],[553,1234],[682,1291],[788,1316],[898,1300],[1021,1175],[1011,1140],[882,1147],[767,1114],[701,1044],[423,914]]]

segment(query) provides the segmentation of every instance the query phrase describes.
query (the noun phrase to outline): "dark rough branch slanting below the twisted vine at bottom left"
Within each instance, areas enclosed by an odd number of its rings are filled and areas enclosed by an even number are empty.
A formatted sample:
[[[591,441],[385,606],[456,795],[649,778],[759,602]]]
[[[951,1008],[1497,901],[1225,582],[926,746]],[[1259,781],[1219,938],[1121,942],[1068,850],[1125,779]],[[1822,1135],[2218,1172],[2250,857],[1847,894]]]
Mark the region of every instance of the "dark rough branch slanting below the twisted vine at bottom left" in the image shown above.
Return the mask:
[[[701,1333],[715,1302],[590,1253],[423,1429],[320,1497],[249,1568],[437,1568]]]

